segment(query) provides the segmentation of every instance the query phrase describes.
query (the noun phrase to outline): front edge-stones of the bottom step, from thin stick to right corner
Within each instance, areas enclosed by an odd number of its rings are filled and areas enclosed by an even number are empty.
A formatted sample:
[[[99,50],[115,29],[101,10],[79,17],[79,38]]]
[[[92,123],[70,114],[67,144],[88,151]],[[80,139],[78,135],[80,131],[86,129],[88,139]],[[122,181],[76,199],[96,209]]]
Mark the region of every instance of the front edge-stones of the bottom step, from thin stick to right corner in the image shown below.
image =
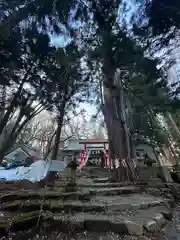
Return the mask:
[[[58,228],[59,231],[74,232],[114,232],[117,234],[129,234],[142,236],[146,233],[154,233],[172,218],[171,210],[168,208],[154,207],[121,215],[107,213],[78,213],[74,215],[45,214],[45,227]]]

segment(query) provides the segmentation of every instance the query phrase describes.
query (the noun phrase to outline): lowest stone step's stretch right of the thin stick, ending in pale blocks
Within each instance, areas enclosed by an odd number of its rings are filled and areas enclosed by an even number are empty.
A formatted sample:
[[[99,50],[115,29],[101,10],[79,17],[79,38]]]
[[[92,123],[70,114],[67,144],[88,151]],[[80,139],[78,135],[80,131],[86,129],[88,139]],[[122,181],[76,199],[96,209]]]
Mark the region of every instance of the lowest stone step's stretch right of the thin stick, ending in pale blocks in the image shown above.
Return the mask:
[[[118,234],[129,234],[142,236],[145,232],[155,233],[159,231],[165,224],[161,208],[138,210],[132,212],[132,215],[121,212],[114,213],[76,213],[69,215],[66,224],[73,226],[76,231],[84,230],[91,232],[111,231]],[[53,216],[54,217],[54,216]],[[61,216],[62,217],[62,216]],[[61,217],[59,218],[61,225]],[[57,217],[55,218],[57,221]],[[64,225],[63,225],[64,226]],[[67,229],[65,227],[64,229]]]

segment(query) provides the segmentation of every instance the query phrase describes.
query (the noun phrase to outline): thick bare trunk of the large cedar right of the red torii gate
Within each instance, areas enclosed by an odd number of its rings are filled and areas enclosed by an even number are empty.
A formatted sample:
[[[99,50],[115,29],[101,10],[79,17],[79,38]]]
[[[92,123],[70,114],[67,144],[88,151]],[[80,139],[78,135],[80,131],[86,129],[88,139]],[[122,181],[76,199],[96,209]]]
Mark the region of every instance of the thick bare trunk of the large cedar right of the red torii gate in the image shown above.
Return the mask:
[[[124,121],[126,120],[122,120],[122,115],[118,118],[116,107],[118,106],[115,106],[113,90],[104,87],[103,112],[108,130],[109,157],[114,167],[115,159],[119,160],[119,169],[115,170],[116,177],[119,180],[133,180],[134,169],[130,163],[132,151],[130,151],[129,135],[124,128]],[[123,164],[124,162],[125,164]]]

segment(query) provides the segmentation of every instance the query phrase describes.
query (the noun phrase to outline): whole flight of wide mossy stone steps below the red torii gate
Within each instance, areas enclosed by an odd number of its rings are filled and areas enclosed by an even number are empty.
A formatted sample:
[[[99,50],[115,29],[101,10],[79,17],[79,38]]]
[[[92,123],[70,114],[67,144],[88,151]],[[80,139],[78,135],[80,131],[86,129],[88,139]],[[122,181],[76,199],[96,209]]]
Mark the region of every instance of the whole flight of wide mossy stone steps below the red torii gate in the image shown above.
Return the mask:
[[[149,191],[156,188],[154,183],[111,183],[108,170],[100,174],[101,171],[90,171],[94,178],[89,177],[89,169],[88,174],[79,174],[76,192],[64,192],[62,183],[57,182],[53,190],[1,194],[1,212],[5,217],[0,219],[0,234],[36,226],[38,222],[38,226],[47,230],[65,233],[106,231],[148,236],[171,220],[172,198],[160,196],[166,190],[165,184],[159,183],[159,194],[154,196]]]

